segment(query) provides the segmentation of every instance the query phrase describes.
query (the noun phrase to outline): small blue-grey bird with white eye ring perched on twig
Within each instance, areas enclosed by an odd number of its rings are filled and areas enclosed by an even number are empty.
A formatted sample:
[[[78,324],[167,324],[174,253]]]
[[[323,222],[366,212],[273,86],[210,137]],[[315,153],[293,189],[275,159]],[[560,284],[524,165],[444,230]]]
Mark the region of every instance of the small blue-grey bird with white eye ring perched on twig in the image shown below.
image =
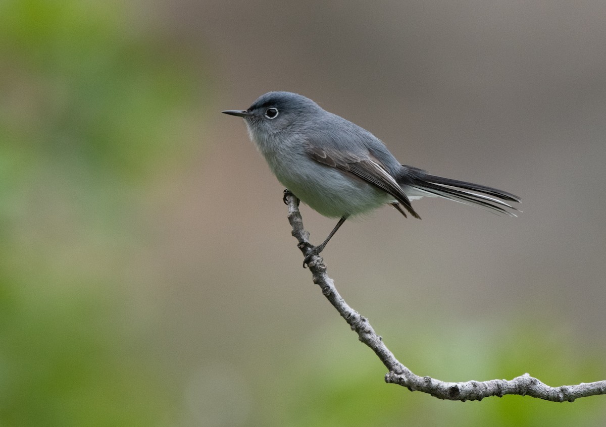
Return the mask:
[[[443,197],[510,216],[515,214],[507,209],[517,211],[504,202],[520,201],[511,193],[400,164],[373,134],[305,96],[269,92],[248,110],[222,112],[244,118],[250,138],[287,190],[322,215],[340,218],[313,254],[348,217],[385,204],[419,219],[410,200],[421,197]]]

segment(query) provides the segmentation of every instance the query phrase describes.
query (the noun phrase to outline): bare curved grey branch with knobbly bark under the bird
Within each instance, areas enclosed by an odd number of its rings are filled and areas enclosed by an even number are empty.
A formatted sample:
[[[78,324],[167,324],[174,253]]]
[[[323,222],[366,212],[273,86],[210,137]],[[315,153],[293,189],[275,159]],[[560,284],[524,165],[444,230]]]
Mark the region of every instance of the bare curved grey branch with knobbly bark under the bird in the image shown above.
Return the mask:
[[[311,253],[313,247],[309,243],[309,233],[303,228],[303,219],[299,213],[299,200],[290,193],[285,193],[284,201],[288,205],[288,222],[293,228],[293,236],[299,241],[298,247],[304,256]],[[313,276],[313,282],[322,289],[322,294],[337,309],[339,314],[358,334],[359,340],[369,346],[379,357],[381,362],[389,369],[385,375],[385,382],[405,386],[410,391],[423,391],[448,400],[482,400],[484,397],[505,394],[518,394],[520,396],[538,397],[551,402],[573,402],[579,397],[606,394],[606,380],[578,385],[563,385],[550,387],[538,379],[524,374],[512,380],[467,381],[459,383],[444,382],[431,377],[419,377],[402,365],[385,346],[368,319],[361,316],[351,308],[339,295],[335,282],[328,277],[324,260],[319,255],[311,256],[308,263]]]

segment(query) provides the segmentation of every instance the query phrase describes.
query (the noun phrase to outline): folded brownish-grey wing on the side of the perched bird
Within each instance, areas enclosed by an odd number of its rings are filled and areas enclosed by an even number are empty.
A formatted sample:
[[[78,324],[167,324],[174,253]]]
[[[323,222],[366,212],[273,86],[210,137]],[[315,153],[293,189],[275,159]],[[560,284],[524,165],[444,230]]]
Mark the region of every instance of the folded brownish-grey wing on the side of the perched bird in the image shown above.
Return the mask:
[[[327,147],[313,147],[310,145],[307,150],[308,156],[314,161],[338,169],[344,173],[350,173],[354,176],[374,185],[377,188],[391,194],[404,208],[415,218],[421,218],[410,205],[408,196],[402,191],[402,187],[387,171],[379,159],[370,152],[366,156],[361,154],[335,150]],[[404,211],[399,210],[402,214]],[[404,216],[406,216],[404,214]]]

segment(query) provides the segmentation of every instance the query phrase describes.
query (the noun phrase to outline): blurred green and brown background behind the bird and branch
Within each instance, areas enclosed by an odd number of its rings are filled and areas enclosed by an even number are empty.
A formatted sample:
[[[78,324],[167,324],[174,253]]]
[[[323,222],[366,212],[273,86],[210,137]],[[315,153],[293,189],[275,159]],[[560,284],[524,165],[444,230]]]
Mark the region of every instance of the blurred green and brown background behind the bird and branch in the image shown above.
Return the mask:
[[[383,382],[301,268],[239,119],[309,96],[405,164],[519,194],[421,200],[324,253],[408,368],[606,376],[606,5],[0,2],[0,425],[576,425],[604,397]],[[302,208],[312,241],[333,221]]]

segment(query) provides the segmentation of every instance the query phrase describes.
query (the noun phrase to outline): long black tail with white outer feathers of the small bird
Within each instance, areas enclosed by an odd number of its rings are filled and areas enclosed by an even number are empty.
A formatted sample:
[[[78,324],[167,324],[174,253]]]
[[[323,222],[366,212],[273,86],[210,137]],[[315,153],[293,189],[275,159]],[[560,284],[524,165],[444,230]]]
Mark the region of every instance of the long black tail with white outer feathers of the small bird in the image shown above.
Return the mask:
[[[425,195],[429,197],[443,197],[444,199],[454,200],[465,205],[476,206],[493,213],[509,216],[517,216],[514,212],[520,212],[520,210],[507,202],[520,202],[521,199],[507,191],[457,179],[430,175],[418,168],[402,166],[402,175],[398,180],[398,184],[418,191],[420,196],[426,193]]]

